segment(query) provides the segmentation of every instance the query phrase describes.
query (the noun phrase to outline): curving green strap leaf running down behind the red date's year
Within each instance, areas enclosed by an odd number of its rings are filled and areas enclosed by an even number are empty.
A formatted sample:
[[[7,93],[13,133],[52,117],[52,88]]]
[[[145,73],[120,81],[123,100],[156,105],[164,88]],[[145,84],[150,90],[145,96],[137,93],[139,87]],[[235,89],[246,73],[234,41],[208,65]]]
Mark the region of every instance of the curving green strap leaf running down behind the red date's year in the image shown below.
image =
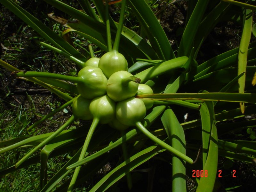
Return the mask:
[[[207,150],[207,158],[204,163],[203,170],[204,173],[206,171],[208,175],[207,177],[205,176],[200,178],[198,187],[196,189],[197,192],[213,190],[218,166],[218,136],[216,122],[214,119],[213,102],[206,101],[203,105],[205,105],[206,110],[200,111],[200,113],[204,113],[204,118],[207,118],[208,120],[202,121],[202,130],[203,132],[210,130],[210,134],[203,134],[203,137],[206,137],[205,140],[209,141],[209,145],[206,143],[207,148],[203,149]],[[209,135],[210,137],[208,137]]]

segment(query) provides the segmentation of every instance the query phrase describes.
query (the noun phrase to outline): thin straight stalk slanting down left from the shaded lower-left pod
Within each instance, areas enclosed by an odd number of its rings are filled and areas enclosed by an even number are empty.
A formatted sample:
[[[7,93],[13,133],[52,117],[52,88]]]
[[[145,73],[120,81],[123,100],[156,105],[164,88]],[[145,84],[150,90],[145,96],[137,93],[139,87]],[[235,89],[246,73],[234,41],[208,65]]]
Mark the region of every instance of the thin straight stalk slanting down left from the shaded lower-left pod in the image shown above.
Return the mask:
[[[33,148],[31,151],[29,151],[24,157],[18,161],[18,163],[15,164],[15,168],[19,167],[24,161],[26,161],[33,153],[35,153],[39,148],[46,145],[49,141],[51,141],[53,138],[55,138],[57,135],[60,134],[65,128],[67,128],[70,124],[73,123],[75,120],[75,117],[72,115],[66,123],[64,123],[56,132],[54,132],[51,136],[49,136],[47,139],[45,139],[42,143],[37,145],[35,148]]]

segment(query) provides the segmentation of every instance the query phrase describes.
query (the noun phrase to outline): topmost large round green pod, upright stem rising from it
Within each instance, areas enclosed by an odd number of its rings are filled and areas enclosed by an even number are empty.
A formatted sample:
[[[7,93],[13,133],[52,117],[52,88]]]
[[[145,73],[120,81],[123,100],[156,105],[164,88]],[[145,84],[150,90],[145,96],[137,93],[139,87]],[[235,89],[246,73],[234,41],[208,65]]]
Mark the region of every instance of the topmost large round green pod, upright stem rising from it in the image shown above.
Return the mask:
[[[109,78],[117,71],[127,71],[128,63],[124,55],[117,51],[107,52],[100,58],[99,66],[104,75]]]

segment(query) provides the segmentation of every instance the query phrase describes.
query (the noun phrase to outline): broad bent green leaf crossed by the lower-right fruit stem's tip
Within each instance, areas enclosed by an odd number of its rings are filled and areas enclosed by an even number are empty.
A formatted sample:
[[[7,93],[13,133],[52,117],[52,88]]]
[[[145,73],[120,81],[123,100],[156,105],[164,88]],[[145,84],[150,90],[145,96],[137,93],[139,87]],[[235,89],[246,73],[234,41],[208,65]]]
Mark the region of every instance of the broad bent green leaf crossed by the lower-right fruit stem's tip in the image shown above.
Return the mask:
[[[186,140],[182,126],[172,109],[165,110],[161,121],[167,132],[172,147],[186,155]],[[186,168],[185,161],[172,156],[172,191],[186,191]]]

